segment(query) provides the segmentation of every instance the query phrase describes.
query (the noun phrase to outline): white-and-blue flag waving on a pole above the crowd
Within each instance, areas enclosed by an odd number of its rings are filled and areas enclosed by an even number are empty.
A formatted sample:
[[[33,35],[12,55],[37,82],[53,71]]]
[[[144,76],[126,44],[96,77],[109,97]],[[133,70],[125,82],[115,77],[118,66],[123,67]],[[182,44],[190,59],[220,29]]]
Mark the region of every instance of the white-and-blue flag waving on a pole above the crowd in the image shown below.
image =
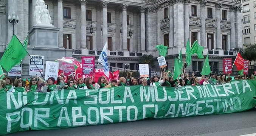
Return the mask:
[[[107,64],[107,42],[99,55],[98,63],[101,63],[104,69],[104,74],[109,78],[109,66]]]

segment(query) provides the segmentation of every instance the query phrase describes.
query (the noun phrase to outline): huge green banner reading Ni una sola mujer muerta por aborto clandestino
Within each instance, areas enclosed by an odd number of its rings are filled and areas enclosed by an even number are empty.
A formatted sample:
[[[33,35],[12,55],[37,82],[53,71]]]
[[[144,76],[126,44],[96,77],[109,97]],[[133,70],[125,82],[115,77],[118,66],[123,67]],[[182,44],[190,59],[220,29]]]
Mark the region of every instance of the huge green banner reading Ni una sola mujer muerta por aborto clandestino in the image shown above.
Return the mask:
[[[0,93],[0,134],[144,118],[241,112],[256,105],[256,81],[215,86],[122,86],[48,93]]]

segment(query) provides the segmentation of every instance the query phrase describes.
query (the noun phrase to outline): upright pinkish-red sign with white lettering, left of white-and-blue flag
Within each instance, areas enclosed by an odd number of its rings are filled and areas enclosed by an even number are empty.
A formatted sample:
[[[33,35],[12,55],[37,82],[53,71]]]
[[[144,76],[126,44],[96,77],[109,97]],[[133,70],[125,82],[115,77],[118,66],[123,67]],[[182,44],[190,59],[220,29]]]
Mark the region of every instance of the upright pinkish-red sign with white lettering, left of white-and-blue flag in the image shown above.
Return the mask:
[[[95,73],[94,56],[82,56],[82,73],[83,75],[93,75]]]

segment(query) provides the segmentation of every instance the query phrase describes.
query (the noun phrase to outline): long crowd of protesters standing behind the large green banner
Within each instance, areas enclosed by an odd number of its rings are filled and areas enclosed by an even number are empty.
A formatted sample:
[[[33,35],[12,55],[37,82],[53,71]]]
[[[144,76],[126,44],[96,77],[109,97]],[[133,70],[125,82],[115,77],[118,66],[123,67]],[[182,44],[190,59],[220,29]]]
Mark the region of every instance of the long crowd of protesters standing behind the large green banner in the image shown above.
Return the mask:
[[[0,75],[6,75],[3,73]],[[128,81],[129,78],[129,81]],[[234,76],[234,80],[239,79],[256,79],[256,74],[250,74],[247,78],[246,76]],[[211,73],[209,76],[202,75],[201,77],[196,77],[194,73],[191,75],[183,70],[182,75],[178,76],[176,79],[173,78],[173,74],[170,71],[162,72],[161,77],[153,76],[152,78],[134,78],[132,72],[126,74],[125,77],[120,77],[118,80],[113,79],[110,83],[107,81],[106,76],[99,77],[97,83],[95,83],[94,76],[92,78],[78,78],[77,80],[73,77],[67,79],[67,83],[64,83],[64,76],[59,75],[57,81],[53,77],[43,81],[39,76],[35,76],[30,79],[29,85],[26,86],[26,81],[22,78],[16,78],[14,81],[12,78],[6,76],[0,79],[0,92],[51,92],[61,89],[101,89],[110,88],[118,86],[165,86],[165,87],[184,87],[184,86],[201,86],[207,84],[222,85],[225,83],[230,83],[232,78],[229,74],[216,75]],[[55,84],[56,83],[56,84]]]

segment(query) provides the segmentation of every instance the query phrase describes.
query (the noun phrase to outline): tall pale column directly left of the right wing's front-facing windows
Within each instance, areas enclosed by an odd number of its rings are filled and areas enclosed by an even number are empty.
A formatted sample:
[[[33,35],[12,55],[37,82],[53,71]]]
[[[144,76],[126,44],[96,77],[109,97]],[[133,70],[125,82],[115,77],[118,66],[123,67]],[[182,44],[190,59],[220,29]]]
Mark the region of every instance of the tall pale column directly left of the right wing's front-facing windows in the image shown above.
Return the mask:
[[[187,43],[189,39],[189,2],[190,0],[184,0],[184,43]],[[202,13],[202,11],[201,11]]]

